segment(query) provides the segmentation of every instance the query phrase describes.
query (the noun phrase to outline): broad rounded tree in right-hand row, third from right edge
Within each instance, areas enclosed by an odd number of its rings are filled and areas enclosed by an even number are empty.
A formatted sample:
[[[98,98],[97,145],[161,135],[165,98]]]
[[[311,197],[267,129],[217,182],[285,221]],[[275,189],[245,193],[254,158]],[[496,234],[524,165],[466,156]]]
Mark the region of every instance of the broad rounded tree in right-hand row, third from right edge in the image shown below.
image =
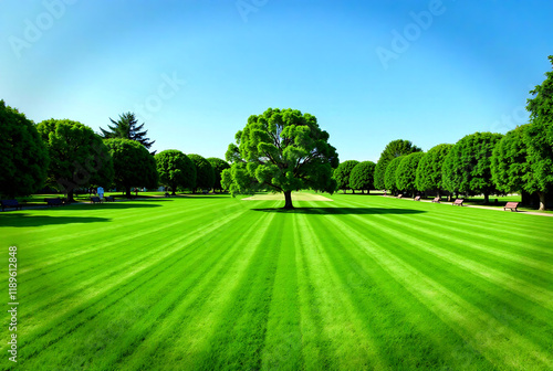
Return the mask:
[[[444,184],[449,192],[483,194],[499,193],[491,179],[493,147],[502,135],[474,132],[461,138],[449,151],[442,167]]]

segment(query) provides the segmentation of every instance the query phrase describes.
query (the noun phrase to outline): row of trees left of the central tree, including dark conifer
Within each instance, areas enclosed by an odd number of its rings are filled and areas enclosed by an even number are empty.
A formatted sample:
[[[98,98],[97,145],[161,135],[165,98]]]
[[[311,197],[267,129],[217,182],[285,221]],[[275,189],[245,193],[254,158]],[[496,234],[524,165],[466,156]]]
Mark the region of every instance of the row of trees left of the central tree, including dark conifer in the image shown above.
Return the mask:
[[[44,184],[58,188],[73,200],[74,192],[91,186],[117,187],[131,197],[133,187],[221,189],[220,173],[229,165],[165,150],[155,156],[147,131],[133,114],[119,116],[102,135],[69,119],[48,119],[34,125],[22,113],[0,100],[0,123],[6,145],[0,147],[3,171],[0,194],[31,194]]]

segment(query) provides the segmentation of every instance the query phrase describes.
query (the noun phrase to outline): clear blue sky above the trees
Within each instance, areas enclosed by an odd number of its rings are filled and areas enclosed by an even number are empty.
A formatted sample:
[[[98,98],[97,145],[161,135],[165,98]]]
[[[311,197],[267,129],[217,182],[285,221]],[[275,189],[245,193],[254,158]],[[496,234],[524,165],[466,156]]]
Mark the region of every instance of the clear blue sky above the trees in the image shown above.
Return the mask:
[[[96,131],[135,112],[205,157],[268,107],[315,115],[342,161],[504,134],[553,54],[545,0],[0,2],[0,99]]]

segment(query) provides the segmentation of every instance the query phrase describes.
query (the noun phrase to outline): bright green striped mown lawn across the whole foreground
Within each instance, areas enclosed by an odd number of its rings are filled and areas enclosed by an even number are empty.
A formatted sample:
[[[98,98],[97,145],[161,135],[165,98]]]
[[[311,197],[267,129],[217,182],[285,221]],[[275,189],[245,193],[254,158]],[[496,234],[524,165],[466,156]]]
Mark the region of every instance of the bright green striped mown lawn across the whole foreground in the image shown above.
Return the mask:
[[[17,369],[553,369],[553,218],[331,198],[0,213]]]

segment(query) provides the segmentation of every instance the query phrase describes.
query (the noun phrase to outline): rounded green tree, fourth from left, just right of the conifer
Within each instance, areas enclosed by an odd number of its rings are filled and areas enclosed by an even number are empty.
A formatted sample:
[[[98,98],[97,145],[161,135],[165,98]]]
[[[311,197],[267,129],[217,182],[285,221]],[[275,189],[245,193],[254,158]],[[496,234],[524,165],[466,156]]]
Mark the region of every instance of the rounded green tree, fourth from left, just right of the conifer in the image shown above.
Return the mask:
[[[196,166],[194,162],[177,149],[167,149],[155,157],[159,182],[171,189],[176,194],[178,187],[196,188]]]

